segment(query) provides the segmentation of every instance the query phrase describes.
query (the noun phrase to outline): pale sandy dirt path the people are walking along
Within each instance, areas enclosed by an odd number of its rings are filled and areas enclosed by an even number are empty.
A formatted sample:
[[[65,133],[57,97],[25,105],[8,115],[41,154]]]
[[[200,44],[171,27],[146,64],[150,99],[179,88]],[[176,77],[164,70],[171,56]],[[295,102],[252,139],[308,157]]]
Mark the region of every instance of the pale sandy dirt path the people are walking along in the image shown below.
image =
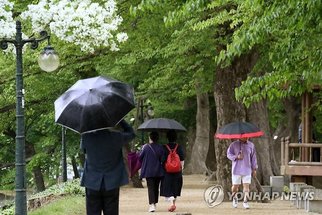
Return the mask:
[[[134,189],[129,187],[121,188],[119,214],[120,215],[151,215],[147,212],[148,193],[145,182],[143,183],[144,189]],[[270,204],[249,202],[251,209],[243,210],[242,203],[239,203],[238,208],[232,208],[231,202],[223,202],[213,208],[207,207],[204,200],[205,190],[212,185],[204,182],[202,175],[187,175],[184,176],[184,187],[181,194],[181,199],[177,202],[177,210],[174,213],[169,213],[167,208],[168,203],[159,198],[157,204],[157,215],[176,215],[191,213],[192,215],[231,215],[231,214],[254,214],[254,215],[301,215],[307,214],[304,210],[298,210],[296,207],[291,206],[290,201],[274,200]]]

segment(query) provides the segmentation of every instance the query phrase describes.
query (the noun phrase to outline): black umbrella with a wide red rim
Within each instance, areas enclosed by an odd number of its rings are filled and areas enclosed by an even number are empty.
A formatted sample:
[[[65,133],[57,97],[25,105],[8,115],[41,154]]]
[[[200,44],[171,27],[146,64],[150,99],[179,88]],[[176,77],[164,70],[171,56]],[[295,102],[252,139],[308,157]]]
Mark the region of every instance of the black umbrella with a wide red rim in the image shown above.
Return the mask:
[[[256,137],[263,135],[263,132],[252,123],[234,122],[224,126],[216,134],[216,137],[223,139],[233,139],[242,137]]]

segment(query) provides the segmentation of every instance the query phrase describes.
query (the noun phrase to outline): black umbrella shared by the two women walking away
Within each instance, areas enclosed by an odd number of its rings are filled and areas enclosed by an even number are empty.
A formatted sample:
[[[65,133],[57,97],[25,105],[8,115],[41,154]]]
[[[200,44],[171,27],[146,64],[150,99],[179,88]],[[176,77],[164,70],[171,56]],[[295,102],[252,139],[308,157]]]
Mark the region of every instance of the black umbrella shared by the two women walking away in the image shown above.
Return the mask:
[[[185,129],[184,126],[178,123],[177,121],[165,118],[150,119],[144,122],[142,125],[140,125],[137,130],[149,132],[156,131],[165,133],[171,129],[176,130],[177,132],[187,131],[187,129]]]

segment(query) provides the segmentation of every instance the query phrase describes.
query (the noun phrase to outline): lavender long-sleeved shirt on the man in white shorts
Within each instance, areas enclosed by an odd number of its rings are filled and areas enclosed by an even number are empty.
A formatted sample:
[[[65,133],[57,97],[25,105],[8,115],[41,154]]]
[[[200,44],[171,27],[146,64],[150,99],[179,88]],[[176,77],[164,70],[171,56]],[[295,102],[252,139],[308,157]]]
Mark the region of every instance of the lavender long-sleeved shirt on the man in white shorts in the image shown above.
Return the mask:
[[[240,145],[241,144],[241,145]],[[237,159],[241,151],[243,159]],[[239,142],[239,139],[232,142],[227,150],[227,157],[232,161],[231,173],[235,175],[251,175],[252,169],[257,169],[255,146],[251,141]]]

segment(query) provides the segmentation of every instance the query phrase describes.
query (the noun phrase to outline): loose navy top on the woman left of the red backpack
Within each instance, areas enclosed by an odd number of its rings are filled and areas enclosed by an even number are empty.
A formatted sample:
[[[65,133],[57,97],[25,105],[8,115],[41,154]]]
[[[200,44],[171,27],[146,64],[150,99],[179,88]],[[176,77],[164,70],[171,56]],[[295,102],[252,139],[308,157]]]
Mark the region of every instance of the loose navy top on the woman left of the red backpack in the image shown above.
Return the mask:
[[[149,177],[163,177],[164,170],[162,163],[165,161],[163,147],[157,143],[151,143],[151,147],[158,154],[159,158],[152,151],[148,144],[145,144],[139,152],[138,160],[142,162],[139,179]],[[161,163],[162,162],[162,163]]]

